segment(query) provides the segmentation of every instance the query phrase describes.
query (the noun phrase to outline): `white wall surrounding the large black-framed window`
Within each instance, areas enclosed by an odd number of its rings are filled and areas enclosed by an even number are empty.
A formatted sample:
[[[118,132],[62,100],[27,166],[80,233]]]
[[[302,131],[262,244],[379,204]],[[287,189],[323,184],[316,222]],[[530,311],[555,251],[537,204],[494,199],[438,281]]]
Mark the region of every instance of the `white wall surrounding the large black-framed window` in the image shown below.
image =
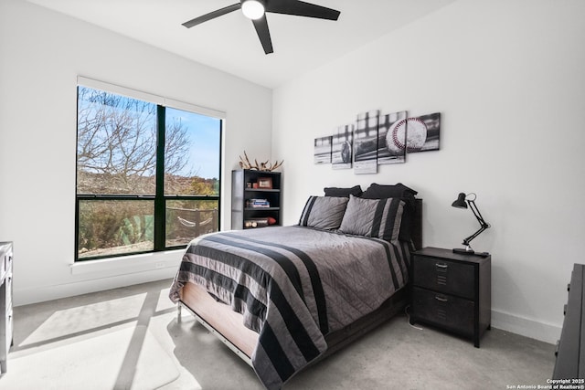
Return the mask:
[[[224,111],[222,227],[238,155],[270,157],[271,90],[23,0],[0,2],[0,239],[15,246],[15,305],[173,277],[176,251],[71,267],[76,79]]]

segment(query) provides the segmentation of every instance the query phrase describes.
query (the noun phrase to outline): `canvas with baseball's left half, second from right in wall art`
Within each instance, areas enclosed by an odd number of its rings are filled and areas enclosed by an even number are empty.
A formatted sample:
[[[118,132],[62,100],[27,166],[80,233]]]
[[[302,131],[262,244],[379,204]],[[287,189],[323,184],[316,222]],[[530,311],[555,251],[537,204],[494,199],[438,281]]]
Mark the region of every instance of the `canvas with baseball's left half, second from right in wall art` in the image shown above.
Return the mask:
[[[407,111],[380,115],[378,123],[378,164],[406,162]]]

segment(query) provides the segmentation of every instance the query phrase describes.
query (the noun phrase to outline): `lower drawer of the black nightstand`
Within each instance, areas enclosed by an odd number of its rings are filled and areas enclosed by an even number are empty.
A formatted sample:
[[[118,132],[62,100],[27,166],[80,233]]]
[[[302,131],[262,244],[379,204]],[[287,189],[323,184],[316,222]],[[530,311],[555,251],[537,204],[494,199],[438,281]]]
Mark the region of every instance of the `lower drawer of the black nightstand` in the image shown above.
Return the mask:
[[[463,335],[473,335],[475,305],[452,295],[420,288],[412,289],[412,315]]]

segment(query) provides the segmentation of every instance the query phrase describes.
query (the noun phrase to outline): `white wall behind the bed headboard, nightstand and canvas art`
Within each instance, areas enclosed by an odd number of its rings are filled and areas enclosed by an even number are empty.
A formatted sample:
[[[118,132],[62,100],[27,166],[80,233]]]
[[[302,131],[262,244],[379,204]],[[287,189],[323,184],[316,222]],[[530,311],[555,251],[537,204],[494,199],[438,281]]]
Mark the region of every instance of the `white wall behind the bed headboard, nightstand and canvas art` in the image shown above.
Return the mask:
[[[274,91],[272,158],[284,159],[284,222],[329,185],[408,184],[424,245],[478,227],[451,207],[475,192],[492,228],[493,325],[555,342],[572,264],[585,262],[585,2],[461,0]],[[441,112],[441,150],[356,175],[314,165],[314,138],[361,111]]]

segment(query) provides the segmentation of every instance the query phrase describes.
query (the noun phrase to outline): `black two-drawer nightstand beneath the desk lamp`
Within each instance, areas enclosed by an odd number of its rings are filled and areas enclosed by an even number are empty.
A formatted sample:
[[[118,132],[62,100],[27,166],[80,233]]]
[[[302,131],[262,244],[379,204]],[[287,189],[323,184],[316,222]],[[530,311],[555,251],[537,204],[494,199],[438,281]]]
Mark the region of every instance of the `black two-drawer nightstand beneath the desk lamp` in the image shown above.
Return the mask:
[[[412,256],[410,323],[426,322],[473,340],[490,329],[492,258],[423,248]]]

